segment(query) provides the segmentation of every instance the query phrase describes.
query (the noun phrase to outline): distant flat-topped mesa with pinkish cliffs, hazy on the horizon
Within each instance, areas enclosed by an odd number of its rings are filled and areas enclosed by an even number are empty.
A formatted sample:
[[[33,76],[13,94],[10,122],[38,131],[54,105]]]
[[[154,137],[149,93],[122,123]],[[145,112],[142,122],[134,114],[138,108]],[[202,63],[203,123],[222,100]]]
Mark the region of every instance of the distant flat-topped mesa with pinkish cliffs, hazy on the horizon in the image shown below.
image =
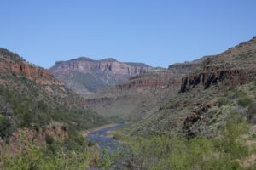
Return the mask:
[[[85,57],[56,62],[49,69],[77,94],[90,94],[107,88],[129,77],[143,74],[151,69],[141,63],[121,63],[116,59],[93,60]]]

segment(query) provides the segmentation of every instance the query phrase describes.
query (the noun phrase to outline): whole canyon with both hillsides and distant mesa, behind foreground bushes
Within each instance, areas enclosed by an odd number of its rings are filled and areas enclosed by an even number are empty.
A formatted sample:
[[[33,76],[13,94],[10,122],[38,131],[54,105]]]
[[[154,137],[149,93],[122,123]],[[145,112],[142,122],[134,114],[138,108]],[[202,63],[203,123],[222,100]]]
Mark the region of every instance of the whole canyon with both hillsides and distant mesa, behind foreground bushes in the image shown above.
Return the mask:
[[[119,139],[214,139],[236,115],[253,127],[255,65],[255,37],[167,69],[80,57],[45,70],[0,48],[0,152],[15,156],[30,143],[48,150],[55,141],[95,151],[94,142]],[[121,134],[108,134],[108,128],[90,133],[88,143],[79,136],[113,122],[130,123]],[[91,160],[90,166],[98,167],[96,158]]]

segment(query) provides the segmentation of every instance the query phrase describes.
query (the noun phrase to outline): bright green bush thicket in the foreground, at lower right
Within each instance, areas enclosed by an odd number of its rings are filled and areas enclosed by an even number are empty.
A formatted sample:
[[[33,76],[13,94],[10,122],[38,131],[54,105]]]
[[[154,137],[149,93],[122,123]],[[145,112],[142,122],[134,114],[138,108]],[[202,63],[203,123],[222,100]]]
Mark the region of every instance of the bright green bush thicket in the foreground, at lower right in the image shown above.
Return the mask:
[[[240,140],[247,132],[247,122],[238,115],[230,118],[220,137],[195,137],[182,135],[150,136],[129,141],[115,162],[127,169],[243,169],[236,161],[248,155],[248,148]],[[119,167],[119,168],[120,168]]]

